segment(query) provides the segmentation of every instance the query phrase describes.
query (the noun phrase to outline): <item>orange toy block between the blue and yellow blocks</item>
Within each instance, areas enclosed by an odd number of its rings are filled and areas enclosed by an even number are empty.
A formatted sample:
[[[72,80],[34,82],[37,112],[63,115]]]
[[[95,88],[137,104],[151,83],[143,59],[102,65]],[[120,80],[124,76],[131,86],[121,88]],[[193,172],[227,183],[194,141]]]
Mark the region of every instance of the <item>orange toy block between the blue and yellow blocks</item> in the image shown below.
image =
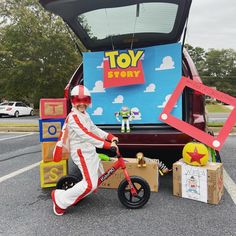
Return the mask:
[[[53,150],[56,145],[56,142],[43,142],[42,143],[42,159],[43,162],[51,162],[53,161]],[[64,150],[64,149],[62,149]],[[68,160],[69,153],[63,152],[62,153],[62,160]]]

